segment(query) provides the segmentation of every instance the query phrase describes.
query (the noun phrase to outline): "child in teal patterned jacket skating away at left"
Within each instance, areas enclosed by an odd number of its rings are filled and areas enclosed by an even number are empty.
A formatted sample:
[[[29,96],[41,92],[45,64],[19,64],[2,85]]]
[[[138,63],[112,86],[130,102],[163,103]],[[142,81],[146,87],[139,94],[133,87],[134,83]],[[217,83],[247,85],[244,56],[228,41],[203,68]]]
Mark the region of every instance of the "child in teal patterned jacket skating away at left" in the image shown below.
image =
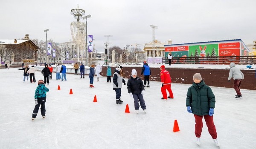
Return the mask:
[[[35,89],[35,109],[33,110],[32,120],[38,114],[39,107],[41,105],[41,115],[45,117],[45,102],[46,102],[46,93],[49,92],[49,89],[44,85],[43,80],[38,80],[38,87]]]

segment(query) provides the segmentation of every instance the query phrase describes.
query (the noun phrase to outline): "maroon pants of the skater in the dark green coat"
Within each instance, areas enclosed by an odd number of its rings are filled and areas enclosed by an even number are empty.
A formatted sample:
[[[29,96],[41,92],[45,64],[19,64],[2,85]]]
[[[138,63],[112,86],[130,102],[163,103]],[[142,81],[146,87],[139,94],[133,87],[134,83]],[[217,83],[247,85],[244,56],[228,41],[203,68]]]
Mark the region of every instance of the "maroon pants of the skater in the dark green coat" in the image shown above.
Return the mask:
[[[195,115],[195,136],[200,138],[203,128],[203,116],[208,127],[208,132],[212,136],[212,139],[217,138],[217,132],[213,123],[213,116],[210,115]]]

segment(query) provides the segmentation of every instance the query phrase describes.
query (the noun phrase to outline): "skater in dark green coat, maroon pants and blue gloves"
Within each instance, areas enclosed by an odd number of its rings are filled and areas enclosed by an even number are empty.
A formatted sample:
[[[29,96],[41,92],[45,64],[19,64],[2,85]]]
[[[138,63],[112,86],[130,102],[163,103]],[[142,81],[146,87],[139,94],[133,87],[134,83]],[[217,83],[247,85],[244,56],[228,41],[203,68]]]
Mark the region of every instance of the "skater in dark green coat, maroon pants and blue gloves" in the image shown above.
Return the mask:
[[[204,83],[201,74],[193,76],[193,85],[189,87],[186,98],[186,107],[189,113],[195,116],[195,136],[196,143],[201,145],[201,132],[203,128],[203,117],[208,127],[208,132],[216,146],[220,146],[217,140],[217,132],[213,123],[213,113],[215,108],[215,95],[212,89]]]

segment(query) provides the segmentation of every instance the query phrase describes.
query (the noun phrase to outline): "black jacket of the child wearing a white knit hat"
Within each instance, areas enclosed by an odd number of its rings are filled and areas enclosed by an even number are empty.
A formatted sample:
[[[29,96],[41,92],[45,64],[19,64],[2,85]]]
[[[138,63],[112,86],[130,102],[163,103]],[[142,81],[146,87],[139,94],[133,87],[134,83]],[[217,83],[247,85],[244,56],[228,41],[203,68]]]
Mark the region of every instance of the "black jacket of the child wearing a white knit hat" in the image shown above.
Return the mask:
[[[141,94],[141,91],[144,90],[144,85],[142,80],[139,77],[133,78],[131,76],[131,78],[127,82],[127,89],[128,89],[128,93],[132,93],[135,95]]]

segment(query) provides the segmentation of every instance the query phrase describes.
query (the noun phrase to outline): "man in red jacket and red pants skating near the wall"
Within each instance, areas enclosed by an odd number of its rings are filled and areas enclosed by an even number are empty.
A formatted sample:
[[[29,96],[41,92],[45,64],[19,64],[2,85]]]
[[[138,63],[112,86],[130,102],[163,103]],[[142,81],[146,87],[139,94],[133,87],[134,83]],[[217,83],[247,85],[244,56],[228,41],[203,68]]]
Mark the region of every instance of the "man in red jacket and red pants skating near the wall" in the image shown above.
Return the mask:
[[[172,83],[171,76],[169,72],[165,69],[164,65],[160,67],[160,70],[161,70],[160,78],[162,82],[161,92],[163,94],[163,97],[161,99],[167,100],[166,89],[169,92],[168,98],[173,98],[172,89],[171,89],[171,83]]]

